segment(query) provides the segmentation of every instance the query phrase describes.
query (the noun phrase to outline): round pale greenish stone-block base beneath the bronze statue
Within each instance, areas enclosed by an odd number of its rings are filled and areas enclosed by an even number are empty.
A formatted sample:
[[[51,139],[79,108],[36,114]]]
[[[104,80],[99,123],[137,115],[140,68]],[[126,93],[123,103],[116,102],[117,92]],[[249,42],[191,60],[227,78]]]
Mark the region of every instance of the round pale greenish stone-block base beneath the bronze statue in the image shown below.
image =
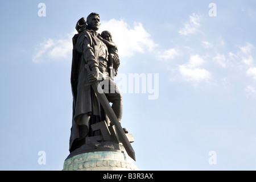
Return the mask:
[[[67,158],[63,171],[137,171],[134,160],[124,152],[86,152]]]

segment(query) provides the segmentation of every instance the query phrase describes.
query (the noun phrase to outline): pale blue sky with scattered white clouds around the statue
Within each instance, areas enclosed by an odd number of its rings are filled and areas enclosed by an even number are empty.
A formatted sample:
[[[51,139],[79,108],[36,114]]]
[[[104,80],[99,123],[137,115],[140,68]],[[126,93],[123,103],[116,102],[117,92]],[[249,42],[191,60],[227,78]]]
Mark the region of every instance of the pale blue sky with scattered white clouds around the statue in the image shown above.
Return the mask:
[[[92,12],[118,46],[121,122],[134,136],[139,169],[256,169],[255,1],[23,0],[1,1],[0,9],[1,170],[63,168],[71,38]],[[146,77],[146,91],[142,79],[139,92],[129,92],[136,75]]]

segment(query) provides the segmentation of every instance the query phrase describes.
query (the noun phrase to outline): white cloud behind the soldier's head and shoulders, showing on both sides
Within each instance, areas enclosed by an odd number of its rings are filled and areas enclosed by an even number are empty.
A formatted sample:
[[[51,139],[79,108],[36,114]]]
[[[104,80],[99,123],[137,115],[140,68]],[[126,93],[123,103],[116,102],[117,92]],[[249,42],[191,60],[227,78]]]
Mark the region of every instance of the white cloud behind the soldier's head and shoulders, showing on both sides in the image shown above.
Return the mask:
[[[133,56],[134,53],[152,51],[157,44],[151,39],[151,35],[144,29],[141,23],[134,23],[129,28],[124,20],[110,19],[102,22],[99,32],[108,30],[112,33],[113,41],[117,44],[120,57]],[[32,60],[35,63],[51,60],[71,60],[72,58],[72,37],[76,31],[65,35],[60,39],[47,39],[35,49]]]

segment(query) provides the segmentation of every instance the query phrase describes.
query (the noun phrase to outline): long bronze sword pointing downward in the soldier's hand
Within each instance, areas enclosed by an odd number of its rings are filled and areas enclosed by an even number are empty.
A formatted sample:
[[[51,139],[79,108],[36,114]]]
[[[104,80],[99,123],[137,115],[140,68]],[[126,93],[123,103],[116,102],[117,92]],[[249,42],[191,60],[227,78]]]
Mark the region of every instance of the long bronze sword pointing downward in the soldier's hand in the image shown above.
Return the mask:
[[[87,64],[85,64],[85,67],[86,67],[88,73],[90,73],[89,66]],[[117,116],[115,115],[112,107],[110,106],[108,98],[106,98],[106,95],[103,92],[99,82],[98,81],[92,82],[91,86],[92,86],[94,92],[96,93],[96,96],[97,96],[98,100],[100,101],[103,109],[105,110],[106,114],[108,115],[110,122],[112,123],[112,125],[115,125],[115,127],[117,129],[118,137],[121,140],[123,147],[125,147],[127,154],[133,160],[135,160],[135,152],[133,150],[133,147],[131,146],[129,139],[126,136],[125,131],[123,131],[122,126],[119,123]]]

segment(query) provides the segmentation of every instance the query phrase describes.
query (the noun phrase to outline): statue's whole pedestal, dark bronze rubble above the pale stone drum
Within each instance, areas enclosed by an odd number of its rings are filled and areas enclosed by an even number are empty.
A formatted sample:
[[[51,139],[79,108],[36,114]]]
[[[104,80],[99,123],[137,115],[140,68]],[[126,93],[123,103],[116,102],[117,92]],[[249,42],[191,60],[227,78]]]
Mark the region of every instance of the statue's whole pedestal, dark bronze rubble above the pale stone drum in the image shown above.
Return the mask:
[[[115,126],[107,126],[105,121],[91,125],[92,130],[100,130],[101,135],[80,140],[79,147],[65,159],[63,171],[137,171],[134,160],[118,138]],[[127,129],[126,129],[127,130]],[[134,142],[133,135],[126,137]],[[133,157],[133,156],[132,156]]]

